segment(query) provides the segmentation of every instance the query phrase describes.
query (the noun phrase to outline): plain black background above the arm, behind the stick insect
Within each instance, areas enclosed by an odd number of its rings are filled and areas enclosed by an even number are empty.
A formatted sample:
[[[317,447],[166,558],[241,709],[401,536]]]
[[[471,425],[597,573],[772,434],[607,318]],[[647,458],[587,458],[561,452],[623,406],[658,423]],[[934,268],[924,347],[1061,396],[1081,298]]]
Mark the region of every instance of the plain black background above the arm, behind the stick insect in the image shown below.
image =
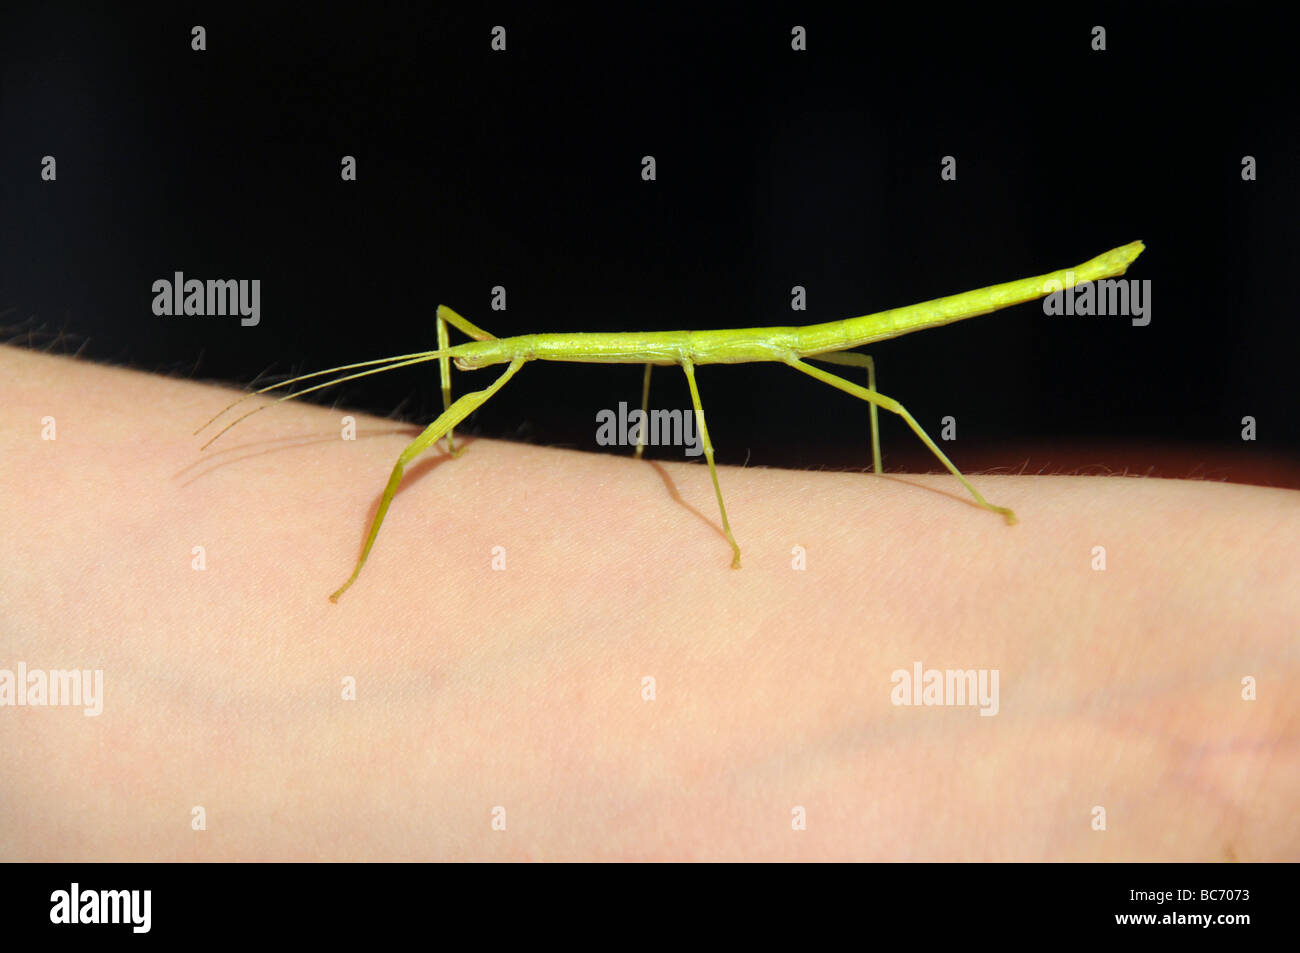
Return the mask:
[[[956,416],[963,468],[1300,486],[1282,12],[6,4],[0,325],[247,385],[432,348],[438,303],[502,337],[811,324],[1140,238],[1149,326],[1027,304],[874,346],[881,391],[932,432]],[[151,285],[176,270],[260,278],[260,325],[156,317]],[[699,385],[724,463],[870,464],[864,407],[789,368],[706,367]],[[640,367],[532,364],[465,430],[595,450],[597,411],[640,386]],[[436,365],[332,398],[441,408]],[[689,406],[680,371],[656,373],[653,404]],[[887,468],[937,468],[900,421],[884,441]]]

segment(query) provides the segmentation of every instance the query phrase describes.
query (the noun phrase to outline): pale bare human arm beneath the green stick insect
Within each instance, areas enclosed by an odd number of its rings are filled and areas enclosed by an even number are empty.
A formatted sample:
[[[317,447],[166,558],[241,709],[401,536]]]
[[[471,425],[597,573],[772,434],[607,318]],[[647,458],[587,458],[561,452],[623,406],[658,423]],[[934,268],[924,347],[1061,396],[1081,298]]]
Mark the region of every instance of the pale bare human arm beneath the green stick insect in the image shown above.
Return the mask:
[[[474,439],[330,606],[411,428],[287,403],[195,459],[226,390],[4,347],[0,390],[0,667],[107,696],[0,709],[3,859],[1300,859],[1297,493],[974,477],[1006,529],[720,467],[732,572],[705,468]],[[894,706],[915,660],[1000,712]]]

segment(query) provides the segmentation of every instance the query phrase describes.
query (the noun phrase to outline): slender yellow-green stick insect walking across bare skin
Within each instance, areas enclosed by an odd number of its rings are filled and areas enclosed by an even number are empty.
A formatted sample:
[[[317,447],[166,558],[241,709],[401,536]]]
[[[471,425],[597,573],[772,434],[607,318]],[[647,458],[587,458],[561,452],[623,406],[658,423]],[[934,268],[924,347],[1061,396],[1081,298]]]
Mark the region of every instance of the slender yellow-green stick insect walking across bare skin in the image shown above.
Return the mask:
[[[850,348],[862,347],[863,345],[870,345],[876,341],[885,341],[887,338],[896,338],[900,334],[909,334],[924,328],[937,328],[939,325],[952,324],[953,321],[961,321],[966,317],[987,315],[991,311],[1006,308],[1013,304],[1020,304],[1023,302],[1031,302],[1036,298],[1070,287],[1075,283],[1121,276],[1128,269],[1128,265],[1132,264],[1134,259],[1143,252],[1143,248],[1144,246],[1141,242],[1131,242],[1130,244],[1113,248],[1102,255],[1098,255],[1091,261],[1086,261],[1072,269],[1040,274],[1036,278],[1010,281],[1004,285],[992,285],[989,287],[979,289],[978,291],[967,291],[965,294],[950,295],[948,298],[936,298],[935,300],[924,302],[923,304],[913,304],[905,308],[881,311],[875,315],[863,315],[862,317],[848,317],[841,321],[828,321],[827,324],[812,324],[803,328],[521,334],[514,338],[495,338],[481,328],[477,328],[467,321],[451,308],[439,304],[437,312],[438,350],[417,351],[415,354],[403,354],[394,358],[380,358],[377,360],[367,360],[358,364],[344,364],[342,367],[329,368],[328,371],[316,371],[315,373],[273,384],[239,398],[239,400],[235,400],[229,407],[222,410],[195,433],[198,434],[207,429],[226,411],[250,397],[265,394],[280,387],[292,386],[302,381],[312,380],[313,377],[324,377],[325,374],[337,374],[339,372],[348,371],[355,372],[324,384],[304,387],[292,394],[286,394],[273,403],[263,404],[261,407],[243,413],[217,432],[212,439],[203,445],[203,449],[211,446],[213,441],[221,437],[221,434],[238,424],[240,420],[244,420],[257,411],[266,410],[266,407],[273,407],[281,400],[291,400],[295,397],[311,394],[312,391],[321,390],[322,387],[343,384],[344,381],[352,381],[358,377],[395,371],[396,368],[410,367],[412,364],[424,364],[430,360],[437,360],[439,363],[445,411],[437,420],[429,424],[424,433],[411,441],[410,446],[407,446],[407,449],[398,456],[398,462],[393,467],[393,475],[389,477],[389,485],[384,490],[384,498],[380,501],[378,512],[376,512],[374,520],[370,523],[370,532],[365,540],[365,547],[361,550],[361,555],[356,560],[356,568],[352,569],[352,575],[348,580],[329,597],[330,602],[338,602],[338,597],[356,581],[356,577],[361,572],[361,567],[365,566],[365,560],[370,555],[370,547],[374,546],[374,540],[380,534],[380,527],[384,524],[384,516],[387,514],[389,504],[393,502],[393,494],[396,493],[398,485],[402,482],[402,473],[407,464],[437,443],[442,437],[447,438],[447,450],[452,455],[458,455],[459,451],[455,447],[452,434],[452,429],[456,424],[462,423],[465,417],[473,413],[473,411],[486,403],[493,394],[504,387],[506,382],[530,360],[563,360],[594,364],[644,363],[646,369],[641,397],[642,413],[649,406],[650,369],[655,364],[677,364],[681,367],[681,369],[686,373],[686,384],[690,385],[690,399],[694,403],[696,420],[698,421],[699,436],[705,447],[705,459],[708,463],[708,475],[712,477],[714,493],[718,497],[718,510],[722,514],[723,533],[727,536],[727,541],[732,547],[733,569],[740,568],[740,546],[736,543],[736,537],[732,536],[731,523],[727,520],[727,507],[723,503],[722,486],[718,482],[718,468],[714,465],[714,446],[708,439],[708,428],[705,424],[705,410],[699,403],[699,390],[696,386],[697,364],[744,364],[748,361],[760,360],[781,361],[789,364],[796,371],[809,374],[810,377],[815,377],[824,384],[829,384],[832,387],[866,400],[871,406],[871,458],[876,473],[881,472],[880,436],[876,429],[876,410],[884,408],[892,413],[897,413],[907,423],[907,426],[911,428],[913,433],[915,433],[916,437],[919,437],[920,441],[930,447],[931,452],[939,458],[939,462],[942,463],[944,467],[961,481],[962,486],[970,491],[971,497],[974,497],[979,506],[996,514],[1001,514],[1008,524],[1014,524],[1015,514],[1004,506],[993,506],[984,499],[979,490],[976,490],[970,481],[962,476],[961,471],[953,465],[948,456],[944,455],[944,451],[935,445],[935,441],[930,438],[930,436],[920,428],[920,424],[915,421],[906,408],[904,408],[904,406],[897,400],[888,398],[876,390],[876,371],[871,358],[864,354],[852,351]],[[451,346],[447,337],[448,324],[467,334],[472,338],[472,341]],[[811,359],[823,364],[864,368],[867,372],[867,386],[863,387],[861,384],[854,384],[853,381],[845,380],[844,377],[833,374],[829,371],[814,367],[805,359]],[[460,371],[476,371],[490,364],[506,364],[507,367],[504,373],[502,373],[500,377],[493,381],[493,384],[484,390],[464,394],[452,402],[451,361],[455,361],[456,368]],[[358,368],[369,369],[358,371]],[[642,416],[642,420],[644,419],[645,416]],[[645,428],[642,426],[642,434],[644,429]],[[642,446],[644,443],[638,442],[636,450],[637,456],[641,456]]]

